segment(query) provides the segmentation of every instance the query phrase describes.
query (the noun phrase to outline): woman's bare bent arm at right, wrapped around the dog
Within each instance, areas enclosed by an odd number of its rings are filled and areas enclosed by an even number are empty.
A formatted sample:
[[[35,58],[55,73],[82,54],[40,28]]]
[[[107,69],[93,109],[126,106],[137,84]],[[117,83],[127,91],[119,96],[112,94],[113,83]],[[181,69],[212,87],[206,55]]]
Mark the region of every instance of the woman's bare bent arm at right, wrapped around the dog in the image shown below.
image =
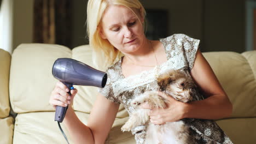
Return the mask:
[[[184,118],[220,119],[229,117],[232,113],[232,104],[210,64],[198,50],[191,76],[199,86],[205,100],[186,103],[184,107]]]

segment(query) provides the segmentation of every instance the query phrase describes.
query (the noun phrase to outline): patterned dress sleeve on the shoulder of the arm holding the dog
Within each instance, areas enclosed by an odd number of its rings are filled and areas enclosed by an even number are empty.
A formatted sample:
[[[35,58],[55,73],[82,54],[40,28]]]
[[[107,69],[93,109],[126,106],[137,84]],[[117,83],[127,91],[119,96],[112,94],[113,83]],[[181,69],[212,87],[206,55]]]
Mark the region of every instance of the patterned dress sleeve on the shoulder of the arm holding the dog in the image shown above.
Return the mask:
[[[200,40],[190,38],[188,35],[184,35],[183,52],[190,70],[193,68],[196,52],[199,49],[199,44]]]

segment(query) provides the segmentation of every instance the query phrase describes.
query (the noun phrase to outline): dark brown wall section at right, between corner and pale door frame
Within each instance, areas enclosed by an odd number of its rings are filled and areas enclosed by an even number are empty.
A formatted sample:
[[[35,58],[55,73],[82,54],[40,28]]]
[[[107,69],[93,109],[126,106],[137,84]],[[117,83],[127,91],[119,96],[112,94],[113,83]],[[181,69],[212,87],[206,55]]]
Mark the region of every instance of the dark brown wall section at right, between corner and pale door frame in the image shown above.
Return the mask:
[[[245,51],[245,1],[205,1],[206,51]]]

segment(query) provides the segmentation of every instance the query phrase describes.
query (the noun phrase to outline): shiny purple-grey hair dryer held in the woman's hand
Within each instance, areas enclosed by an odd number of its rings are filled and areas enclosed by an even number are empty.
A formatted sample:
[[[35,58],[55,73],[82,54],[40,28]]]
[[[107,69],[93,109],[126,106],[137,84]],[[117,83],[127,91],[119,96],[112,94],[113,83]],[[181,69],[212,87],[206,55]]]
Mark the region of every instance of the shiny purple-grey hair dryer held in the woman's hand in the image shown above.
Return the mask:
[[[56,79],[69,88],[69,95],[71,95],[70,90],[73,89],[73,85],[103,88],[107,82],[106,73],[71,58],[58,58],[54,62],[52,72]],[[56,106],[55,121],[62,122],[67,109],[68,106]]]

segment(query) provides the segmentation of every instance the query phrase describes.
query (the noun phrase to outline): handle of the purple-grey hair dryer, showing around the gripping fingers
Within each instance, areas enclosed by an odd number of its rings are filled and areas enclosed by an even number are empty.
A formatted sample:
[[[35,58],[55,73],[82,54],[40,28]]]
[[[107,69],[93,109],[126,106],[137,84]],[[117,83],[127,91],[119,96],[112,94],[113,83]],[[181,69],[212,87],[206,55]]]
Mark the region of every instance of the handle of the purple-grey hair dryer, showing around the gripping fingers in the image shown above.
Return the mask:
[[[73,89],[73,85],[69,84],[69,83],[65,83],[65,82],[63,82],[63,83],[68,87],[68,89],[69,89],[68,94],[71,95],[70,90]],[[68,109],[68,106],[66,106],[66,107],[59,106],[59,105],[56,106],[54,121],[62,123],[62,121],[66,115],[67,109]]]

